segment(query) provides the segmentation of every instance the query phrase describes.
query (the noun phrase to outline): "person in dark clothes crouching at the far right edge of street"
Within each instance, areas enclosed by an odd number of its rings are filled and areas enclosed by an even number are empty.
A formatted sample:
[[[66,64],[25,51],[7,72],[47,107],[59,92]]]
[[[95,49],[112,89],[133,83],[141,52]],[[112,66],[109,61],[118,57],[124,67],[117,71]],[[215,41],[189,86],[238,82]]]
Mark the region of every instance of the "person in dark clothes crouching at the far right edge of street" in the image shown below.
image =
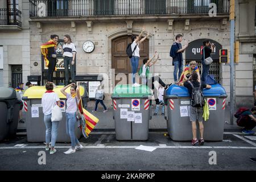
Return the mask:
[[[243,134],[255,133],[254,131],[251,131],[256,126],[256,118],[253,116],[254,114],[256,114],[256,107],[253,107],[251,110],[245,109],[238,114],[237,125],[244,127],[242,129]]]

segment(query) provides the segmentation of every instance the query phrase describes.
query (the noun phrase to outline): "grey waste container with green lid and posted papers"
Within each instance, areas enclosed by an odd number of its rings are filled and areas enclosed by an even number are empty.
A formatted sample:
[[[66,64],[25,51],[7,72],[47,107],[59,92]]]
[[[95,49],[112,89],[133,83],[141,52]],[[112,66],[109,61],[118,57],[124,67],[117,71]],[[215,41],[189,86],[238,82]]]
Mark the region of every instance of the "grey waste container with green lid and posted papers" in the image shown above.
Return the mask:
[[[115,86],[112,99],[117,140],[148,139],[148,122],[151,119],[150,96],[150,89],[146,85]]]

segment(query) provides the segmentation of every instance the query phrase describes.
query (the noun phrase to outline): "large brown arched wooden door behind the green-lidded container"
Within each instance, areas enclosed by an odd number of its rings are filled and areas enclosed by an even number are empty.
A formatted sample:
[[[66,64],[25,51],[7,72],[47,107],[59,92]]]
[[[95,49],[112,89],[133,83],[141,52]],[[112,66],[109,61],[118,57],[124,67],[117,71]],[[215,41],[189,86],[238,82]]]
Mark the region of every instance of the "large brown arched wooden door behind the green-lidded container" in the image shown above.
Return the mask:
[[[112,69],[115,69],[115,85],[131,84],[131,78],[129,78],[131,63],[130,58],[125,52],[127,44],[130,42],[131,36],[121,36],[112,40]],[[144,42],[139,45],[139,49],[140,59],[138,71],[142,65],[142,60],[148,57],[148,39],[144,40]]]

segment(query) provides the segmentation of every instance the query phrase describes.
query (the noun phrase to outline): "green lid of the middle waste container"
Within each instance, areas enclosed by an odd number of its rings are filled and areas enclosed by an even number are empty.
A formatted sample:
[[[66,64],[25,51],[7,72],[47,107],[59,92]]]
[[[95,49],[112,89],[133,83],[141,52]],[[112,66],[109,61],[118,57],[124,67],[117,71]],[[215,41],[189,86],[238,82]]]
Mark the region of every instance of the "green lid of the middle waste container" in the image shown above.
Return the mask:
[[[150,97],[151,90],[147,85],[133,86],[133,85],[117,85],[115,86],[112,98],[136,97],[144,98]]]

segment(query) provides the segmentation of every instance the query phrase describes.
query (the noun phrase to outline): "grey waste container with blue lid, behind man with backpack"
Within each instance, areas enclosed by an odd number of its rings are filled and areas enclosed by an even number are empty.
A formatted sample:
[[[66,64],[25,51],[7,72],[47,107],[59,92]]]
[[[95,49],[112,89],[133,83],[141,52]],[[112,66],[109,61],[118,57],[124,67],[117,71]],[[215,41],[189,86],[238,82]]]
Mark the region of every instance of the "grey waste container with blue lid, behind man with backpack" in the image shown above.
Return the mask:
[[[225,89],[220,84],[204,89],[205,99],[210,104],[209,120],[204,123],[204,139],[208,141],[221,141],[224,133]],[[164,92],[166,106],[166,120],[168,134],[172,140],[185,141],[192,139],[192,127],[189,121],[190,96],[184,86],[172,85]],[[197,138],[200,138],[197,123]]]

